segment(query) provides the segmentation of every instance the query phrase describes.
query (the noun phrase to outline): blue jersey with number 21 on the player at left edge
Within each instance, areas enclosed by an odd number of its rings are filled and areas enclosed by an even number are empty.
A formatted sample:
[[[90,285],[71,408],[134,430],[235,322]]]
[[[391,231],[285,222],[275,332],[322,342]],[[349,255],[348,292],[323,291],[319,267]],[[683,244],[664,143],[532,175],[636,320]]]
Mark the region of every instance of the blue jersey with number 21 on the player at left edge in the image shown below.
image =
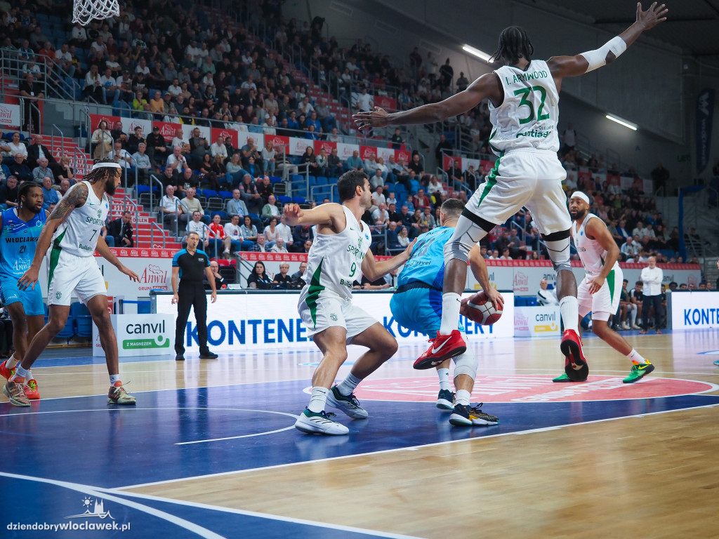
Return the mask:
[[[16,278],[32,264],[35,257],[35,246],[45,225],[47,214],[40,211],[27,223],[17,216],[15,208],[2,212],[2,229],[0,229],[0,274]]]

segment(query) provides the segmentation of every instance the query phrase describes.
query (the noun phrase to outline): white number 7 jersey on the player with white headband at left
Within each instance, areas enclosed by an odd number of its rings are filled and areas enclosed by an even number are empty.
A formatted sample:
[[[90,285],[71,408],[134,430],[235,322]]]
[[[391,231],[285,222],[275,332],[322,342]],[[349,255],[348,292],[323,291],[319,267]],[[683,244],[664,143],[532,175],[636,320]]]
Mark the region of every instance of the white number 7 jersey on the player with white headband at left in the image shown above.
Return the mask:
[[[83,206],[73,209],[65,222],[58,226],[52,236],[52,247],[74,254],[75,257],[92,257],[97,238],[105,226],[110,203],[106,194],[100,200],[92,190],[92,185],[86,181],[83,183],[88,186],[88,199]]]

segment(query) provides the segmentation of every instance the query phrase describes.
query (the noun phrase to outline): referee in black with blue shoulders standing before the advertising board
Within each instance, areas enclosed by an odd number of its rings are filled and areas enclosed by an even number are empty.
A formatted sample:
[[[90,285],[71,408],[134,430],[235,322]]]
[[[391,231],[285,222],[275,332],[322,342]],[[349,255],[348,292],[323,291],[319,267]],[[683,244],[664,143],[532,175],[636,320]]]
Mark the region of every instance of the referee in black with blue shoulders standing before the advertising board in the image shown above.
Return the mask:
[[[187,248],[175,253],[173,257],[173,303],[178,304],[178,318],[175,324],[175,360],[185,361],[185,326],[190,308],[195,309],[197,336],[200,341],[200,359],[215,359],[207,348],[207,298],[202,283],[203,274],[212,287],[212,303],[217,300],[215,278],[210,270],[207,253],[197,249],[200,236],[191,232],[187,236]],[[178,286],[178,279],[180,285]]]

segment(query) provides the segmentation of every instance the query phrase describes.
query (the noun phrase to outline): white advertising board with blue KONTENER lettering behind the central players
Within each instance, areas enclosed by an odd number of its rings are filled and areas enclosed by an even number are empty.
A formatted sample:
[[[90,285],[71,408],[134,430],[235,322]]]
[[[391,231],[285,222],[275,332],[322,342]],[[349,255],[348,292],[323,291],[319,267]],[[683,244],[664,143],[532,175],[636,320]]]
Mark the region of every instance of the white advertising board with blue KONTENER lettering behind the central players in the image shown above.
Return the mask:
[[[465,294],[469,296],[470,294]],[[296,310],[298,293],[245,293],[221,292],[216,303],[207,304],[207,332],[209,346],[215,350],[229,351],[287,346],[314,346],[307,337]],[[172,305],[172,295],[154,296],[157,313],[175,315],[177,305]],[[400,344],[425,344],[427,337],[409,331],[398,323],[390,311],[392,295],[385,292],[365,292],[354,295],[354,305],[372,313],[377,321],[397,338]],[[514,334],[514,298],[505,295],[502,318],[493,326],[480,326],[461,317],[467,335],[472,339],[512,337]],[[198,351],[197,325],[191,313],[185,333],[185,347]]]

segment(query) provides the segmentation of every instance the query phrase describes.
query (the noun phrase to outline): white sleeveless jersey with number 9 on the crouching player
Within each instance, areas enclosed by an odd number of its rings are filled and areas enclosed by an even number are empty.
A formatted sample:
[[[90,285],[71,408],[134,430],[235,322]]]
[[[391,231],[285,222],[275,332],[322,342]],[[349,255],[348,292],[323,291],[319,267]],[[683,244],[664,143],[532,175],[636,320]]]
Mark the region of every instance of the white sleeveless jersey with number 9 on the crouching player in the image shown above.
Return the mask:
[[[362,280],[362,261],[370,250],[370,227],[357,222],[347,206],[342,206],[347,226],[339,234],[316,234],[307,256],[307,270],[302,276],[309,293],[331,290],[352,298],[352,282]]]

